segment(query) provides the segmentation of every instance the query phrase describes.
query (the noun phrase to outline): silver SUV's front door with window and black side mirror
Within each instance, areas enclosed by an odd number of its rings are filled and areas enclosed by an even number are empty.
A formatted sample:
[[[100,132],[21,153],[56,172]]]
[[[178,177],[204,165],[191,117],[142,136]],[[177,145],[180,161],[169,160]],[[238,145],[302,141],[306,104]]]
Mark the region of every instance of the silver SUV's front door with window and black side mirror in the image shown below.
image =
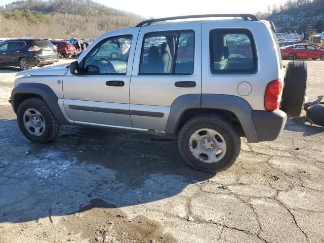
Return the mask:
[[[68,71],[64,76],[64,109],[75,123],[132,127],[129,89],[138,29],[123,31],[107,33],[80,55],[82,74]],[[130,48],[119,51],[118,57],[111,55],[107,47],[121,50],[125,41]]]

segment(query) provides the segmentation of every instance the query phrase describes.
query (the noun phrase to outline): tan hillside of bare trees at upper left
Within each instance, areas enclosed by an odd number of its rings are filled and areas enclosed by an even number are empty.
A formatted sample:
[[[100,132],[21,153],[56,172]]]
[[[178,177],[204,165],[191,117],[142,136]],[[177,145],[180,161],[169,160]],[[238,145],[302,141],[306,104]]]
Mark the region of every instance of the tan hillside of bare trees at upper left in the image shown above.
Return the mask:
[[[26,0],[0,7],[0,37],[94,38],[142,17],[91,0]]]

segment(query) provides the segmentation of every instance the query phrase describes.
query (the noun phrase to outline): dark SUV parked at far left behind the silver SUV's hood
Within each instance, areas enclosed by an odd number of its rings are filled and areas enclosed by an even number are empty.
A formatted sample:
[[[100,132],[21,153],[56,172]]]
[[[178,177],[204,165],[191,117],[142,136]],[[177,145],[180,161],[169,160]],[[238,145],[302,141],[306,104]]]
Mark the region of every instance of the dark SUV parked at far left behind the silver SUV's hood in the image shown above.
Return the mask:
[[[19,38],[0,44],[0,67],[19,66],[26,70],[58,61],[56,46],[48,39]]]

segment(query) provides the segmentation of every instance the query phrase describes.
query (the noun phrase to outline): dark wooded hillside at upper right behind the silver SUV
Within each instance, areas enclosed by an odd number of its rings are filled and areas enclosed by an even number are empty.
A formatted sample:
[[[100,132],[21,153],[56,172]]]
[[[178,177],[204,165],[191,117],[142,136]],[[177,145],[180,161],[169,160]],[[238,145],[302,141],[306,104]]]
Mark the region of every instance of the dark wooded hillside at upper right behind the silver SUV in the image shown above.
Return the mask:
[[[324,0],[289,0],[281,6],[268,7],[265,13],[257,13],[261,19],[271,20],[277,32],[304,29],[324,31]]]

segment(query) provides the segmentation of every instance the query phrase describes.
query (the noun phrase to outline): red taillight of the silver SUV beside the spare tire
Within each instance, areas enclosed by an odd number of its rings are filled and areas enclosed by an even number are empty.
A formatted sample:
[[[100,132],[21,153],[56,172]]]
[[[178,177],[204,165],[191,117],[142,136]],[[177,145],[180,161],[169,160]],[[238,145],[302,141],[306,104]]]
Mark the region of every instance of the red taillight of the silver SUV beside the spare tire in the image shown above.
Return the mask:
[[[282,94],[282,82],[280,79],[271,81],[265,90],[264,108],[265,110],[276,110],[279,108]]]

